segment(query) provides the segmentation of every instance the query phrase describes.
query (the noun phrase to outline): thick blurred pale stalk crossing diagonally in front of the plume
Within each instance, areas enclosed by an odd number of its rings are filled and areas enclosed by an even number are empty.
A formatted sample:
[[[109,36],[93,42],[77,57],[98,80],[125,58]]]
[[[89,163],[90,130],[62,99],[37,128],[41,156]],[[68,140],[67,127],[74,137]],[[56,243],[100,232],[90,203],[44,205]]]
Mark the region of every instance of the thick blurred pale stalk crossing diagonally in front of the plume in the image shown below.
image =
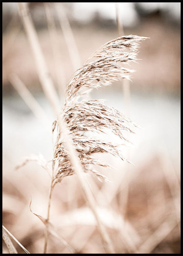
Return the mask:
[[[65,138],[65,143],[66,143],[66,147],[69,151],[69,155],[70,155],[70,160],[72,163],[72,166],[74,167],[76,174],[78,176],[78,179],[80,181],[80,184],[82,186],[84,195],[88,201],[88,204],[91,208],[91,210],[93,211],[93,214],[96,218],[98,227],[99,227],[99,231],[100,231],[100,235],[103,241],[103,246],[104,249],[106,251],[106,253],[114,253],[113,250],[113,246],[111,243],[111,240],[108,236],[108,234],[106,233],[105,227],[101,222],[101,219],[99,218],[99,215],[97,213],[96,210],[96,204],[95,204],[95,200],[94,197],[91,193],[91,190],[89,189],[89,187],[86,185],[87,183],[85,182],[85,178],[84,175],[82,173],[82,166],[80,164],[79,158],[77,156],[77,152],[75,150],[75,148],[72,145],[72,141],[69,138],[68,135],[68,131],[65,125],[65,121],[61,118],[60,116],[60,111],[59,111],[59,100],[58,100],[58,96],[56,94],[55,88],[53,86],[52,80],[48,75],[48,70],[45,64],[45,60],[43,57],[43,53],[41,50],[41,47],[39,45],[38,42],[38,37],[33,25],[33,22],[30,18],[30,16],[28,16],[28,12],[27,9],[25,8],[23,3],[18,3],[19,4],[19,10],[20,10],[20,14],[21,14],[21,18],[24,24],[24,28],[25,31],[27,33],[27,37],[30,41],[33,53],[34,53],[34,57],[35,57],[35,61],[36,61],[36,65],[37,65],[37,72],[38,72],[38,76],[39,76],[39,80],[41,82],[42,88],[45,92],[46,97],[48,98],[55,116],[57,117],[58,123],[59,123],[59,129],[60,132],[62,132],[62,135]],[[54,168],[52,169],[52,175],[54,174]],[[53,177],[53,176],[52,176]],[[51,196],[52,196],[52,191],[53,191],[53,179],[50,181],[50,190],[49,190],[49,199],[48,199],[48,210],[47,210],[47,223],[49,221],[49,213],[50,213],[50,202],[51,202]],[[47,251],[47,240],[48,240],[48,224],[45,227],[45,244],[44,244],[44,253],[46,253]]]

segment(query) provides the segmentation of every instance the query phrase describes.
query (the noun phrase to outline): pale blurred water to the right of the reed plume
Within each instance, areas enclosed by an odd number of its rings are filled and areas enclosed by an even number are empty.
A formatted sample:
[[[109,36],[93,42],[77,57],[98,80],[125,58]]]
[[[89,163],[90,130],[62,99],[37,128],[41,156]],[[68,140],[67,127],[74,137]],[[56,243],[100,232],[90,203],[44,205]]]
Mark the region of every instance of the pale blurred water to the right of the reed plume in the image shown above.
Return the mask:
[[[114,95],[114,97],[113,97]],[[97,96],[108,98],[106,104],[124,112],[124,98],[121,92],[105,92]],[[142,129],[133,135],[133,162],[144,161],[163,150],[180,163],[180,99],[168,95],[132,94],[129,117]]]

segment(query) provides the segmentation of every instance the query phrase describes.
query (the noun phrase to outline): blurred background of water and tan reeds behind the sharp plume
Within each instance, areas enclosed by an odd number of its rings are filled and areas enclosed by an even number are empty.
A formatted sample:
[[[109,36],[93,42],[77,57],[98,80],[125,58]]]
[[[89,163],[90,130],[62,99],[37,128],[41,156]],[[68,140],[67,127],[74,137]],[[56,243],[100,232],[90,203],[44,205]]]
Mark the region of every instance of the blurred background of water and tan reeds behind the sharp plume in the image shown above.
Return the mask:
[[[134,165],[100,156],[115,167],[99,169],[111,183],[86,175],[116,253],[180,253],[180,2],[27,3],[60,104],[72,72],[105,42],[121,35],[149,37],[124,82],[92,91],[92,99],[124,112],[142,129],[130,136],[124,155]],[[18,4],[3,2],[3,225],[31,252],[42,253],[49,175],[37,163],[15,170],[25,157],[53,156],[54,115],[39,83]],[[46,113],[36,118],[18,91],[21,81]],[[13,86],[14,85],[14,86]],[[22,89],[20,89],[22,90]],[[130,95],[129,95],[130,92]],[[25,92],[22,91],[25,95]],[[125,96],[126,95],[126,96]],[[96,223],[77,177],[56,186],[53,225],[80,253],[104,253]],[[23,250],[13,242],[19,253]],[[3,244],[3,253],[7,253]],[[49,236],[48,253],[70,253]]]

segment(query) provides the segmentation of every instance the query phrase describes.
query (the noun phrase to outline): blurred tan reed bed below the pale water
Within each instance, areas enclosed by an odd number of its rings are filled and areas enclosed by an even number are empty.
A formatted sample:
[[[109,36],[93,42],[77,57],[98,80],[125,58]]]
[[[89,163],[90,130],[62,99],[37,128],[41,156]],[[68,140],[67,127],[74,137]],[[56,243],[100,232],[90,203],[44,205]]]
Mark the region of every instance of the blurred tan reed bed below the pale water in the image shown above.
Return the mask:
[[[140,168],[130,165],[128,176],[125,165],[118,161],[113,174],[111,169],[104,172],[111,183],[101,183],[89,175],[89,184],[100,205],[99,214],[116,253],[180,253],[180,183],[176,167],[168,159],[160,152],[146,159]],[[110,159],[113,165],[114,161]],[[8,164],[4,164],[5,168]],[[6,174],[4,171],[3,178],[3,225],[30,253],[42,253],[44,224],[31,213],[29,203],[32,197],[32,211],[46,217],[48,177],[34,164],[16,174],[12,174],[12,167],[10,170]],[[127,189],[125,204],[123,195]],[[48,253],[105,253],[75,176],[63,179],[55,187],[51,213],[57,236],[50,233]],[[71,249],[63,244],[62,237]],[[24,253],[12,242],[18,253]],[[3,253],[8,253],[4,243]]]

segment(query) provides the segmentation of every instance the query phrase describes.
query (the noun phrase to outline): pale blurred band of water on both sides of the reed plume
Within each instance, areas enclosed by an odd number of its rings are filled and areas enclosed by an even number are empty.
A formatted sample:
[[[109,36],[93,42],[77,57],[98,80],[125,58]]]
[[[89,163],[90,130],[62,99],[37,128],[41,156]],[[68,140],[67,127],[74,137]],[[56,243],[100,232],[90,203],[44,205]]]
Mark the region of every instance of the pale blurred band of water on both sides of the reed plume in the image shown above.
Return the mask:
[[[48,115],[50,125],[43,125],[17,97],[3,98],[3,158],[17,163],[19,159],[41,152],[52,158],[52,122],[54,116],[43,95],[36,96]],[[122,92],[98,90],[92,99],[109,99],[105,104],[123,112]],[[180,164],[180,99],[166,95],[137,95],[130,99],[130,118],[143,129],[133,135],[132,161],[137,164],[166,148]],[[131,159],[130,159],[131,160]]]

